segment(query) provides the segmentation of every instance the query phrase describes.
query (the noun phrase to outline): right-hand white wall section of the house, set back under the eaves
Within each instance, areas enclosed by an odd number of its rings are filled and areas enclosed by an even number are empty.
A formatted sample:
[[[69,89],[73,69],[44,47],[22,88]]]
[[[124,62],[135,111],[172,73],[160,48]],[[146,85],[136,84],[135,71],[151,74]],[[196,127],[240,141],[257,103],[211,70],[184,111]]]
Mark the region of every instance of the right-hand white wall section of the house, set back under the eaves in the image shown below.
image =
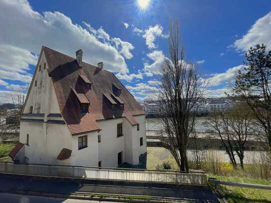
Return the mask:
[[[145,115],[135,116],[140,124],[132,126],[126,118],[98,121],[101,131],[99,146],[99,161],[102,167],[118,167],[118,153],[122,152],[123,162],[138,165],[139,156],[146,153]],[[117,124],[123,125],[123,136],[117,137]],[[140,146],[140,137],[143,137],[143,146]],[[98,138],[96,139],[98,142]]]

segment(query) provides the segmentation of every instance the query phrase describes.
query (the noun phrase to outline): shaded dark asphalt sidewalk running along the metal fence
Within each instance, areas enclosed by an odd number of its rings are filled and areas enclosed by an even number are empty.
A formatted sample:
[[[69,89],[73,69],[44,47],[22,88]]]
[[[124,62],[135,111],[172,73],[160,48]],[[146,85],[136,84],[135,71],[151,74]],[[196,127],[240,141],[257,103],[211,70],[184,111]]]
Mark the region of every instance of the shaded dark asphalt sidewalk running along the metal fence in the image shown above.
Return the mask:
[[[17,190],[60,194],[85,192],[101,194],[141,195],[218,203],[217,197],[208,187],[183,186],[177,189],[163,189],[112,185],[91,185],[62,180],[31,180],[5,176],[0,177],[1,192],[12,192]]]

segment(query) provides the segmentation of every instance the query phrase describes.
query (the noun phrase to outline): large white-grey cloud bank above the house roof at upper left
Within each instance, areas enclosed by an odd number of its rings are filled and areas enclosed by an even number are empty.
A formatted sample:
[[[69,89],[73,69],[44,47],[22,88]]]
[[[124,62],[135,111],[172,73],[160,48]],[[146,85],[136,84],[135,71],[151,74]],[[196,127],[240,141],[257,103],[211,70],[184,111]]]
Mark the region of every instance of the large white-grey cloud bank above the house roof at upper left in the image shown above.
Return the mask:
[[[82,48],[84,61],[91,64],[103,61],[105,69],[129,72],[124,57],[107,42],[110,36],[102,27],[95,30],[83,22],[86,26],[83,28],[58,11],[41,14],[34,11],[26,0],[2,0],[0,7],[0,24],[4,27],[0,32],[0,44],[30,53],[39,53],[41,45],[45,45],[70,56],[75,56],[75,51]]]

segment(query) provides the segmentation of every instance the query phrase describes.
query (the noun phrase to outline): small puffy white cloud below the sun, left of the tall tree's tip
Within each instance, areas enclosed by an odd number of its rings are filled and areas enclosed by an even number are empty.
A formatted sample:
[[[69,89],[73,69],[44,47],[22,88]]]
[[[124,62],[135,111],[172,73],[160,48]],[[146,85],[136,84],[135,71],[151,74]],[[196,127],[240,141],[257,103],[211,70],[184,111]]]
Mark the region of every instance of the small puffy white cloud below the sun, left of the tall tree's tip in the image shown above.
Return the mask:
[[[145,30],[143,37],[146,39],[146,45],[149,49],[158,47],[154,44],[157,36],[164,38],[167,37],[167,35],[163,34],[163,27],[160,24],[156,24],[155,26],[149,26],[148,29]]]

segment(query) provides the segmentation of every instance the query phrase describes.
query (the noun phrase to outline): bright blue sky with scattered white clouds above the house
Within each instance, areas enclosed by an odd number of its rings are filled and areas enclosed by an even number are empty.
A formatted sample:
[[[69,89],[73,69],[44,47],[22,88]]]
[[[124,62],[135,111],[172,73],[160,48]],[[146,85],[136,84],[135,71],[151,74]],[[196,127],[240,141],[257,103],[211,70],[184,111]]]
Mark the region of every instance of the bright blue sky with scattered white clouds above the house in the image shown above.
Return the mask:
[[[0,103],[27,86],[41,45],[113,71],[142,101],[153,97],[177,18],[185,59],[210,78],[207,96],[229,91],[244,52],[271,46],[270,0],[0,0]]]

